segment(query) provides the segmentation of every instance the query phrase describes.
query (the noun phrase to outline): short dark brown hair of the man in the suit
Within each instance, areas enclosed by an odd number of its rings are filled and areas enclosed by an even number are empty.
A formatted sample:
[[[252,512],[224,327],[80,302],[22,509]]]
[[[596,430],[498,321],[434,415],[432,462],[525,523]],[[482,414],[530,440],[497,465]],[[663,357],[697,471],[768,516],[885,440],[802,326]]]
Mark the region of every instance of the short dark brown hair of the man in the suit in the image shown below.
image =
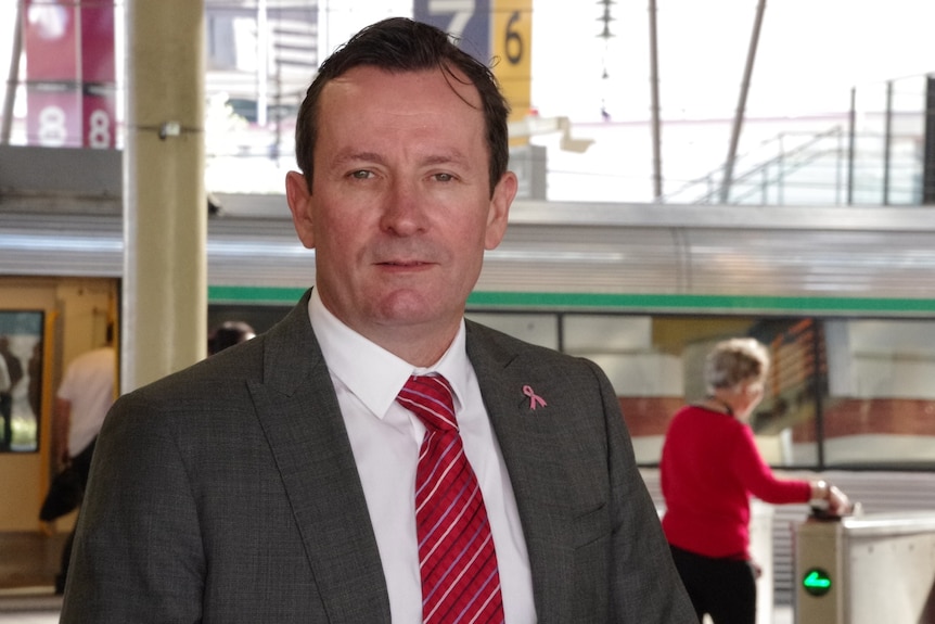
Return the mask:
[[[295,158],[311,190],[315,143],[318,138],[318,101],[324,86],[346,72],[373,66],[387,72],[439,68],[449,80],[461,81],[456,71],[481,93],[487,148],[490,156],[490,193],[507,171],[510,160],[507,116],[510,107],[489,67],[458,48],[445,31],[406,17],[372,24],[329,56],[306,92],[295,126]]]

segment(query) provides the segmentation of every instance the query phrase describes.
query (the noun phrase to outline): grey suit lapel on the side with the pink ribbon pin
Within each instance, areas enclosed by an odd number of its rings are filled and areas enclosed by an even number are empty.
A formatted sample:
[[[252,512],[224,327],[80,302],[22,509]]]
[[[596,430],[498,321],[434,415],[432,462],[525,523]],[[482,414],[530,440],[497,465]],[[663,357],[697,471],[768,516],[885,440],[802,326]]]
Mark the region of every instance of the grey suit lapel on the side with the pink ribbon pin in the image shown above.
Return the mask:
[[[539,394],[536,365],[495,345],[467,323],[467,356],[477,374],[481,394],[497,434],[516,505],[533,571],[533,590],[539,624],[567,622],[565,606],[573,602],[564,576],[573,569],[574,535],[566,507],[567,475],[552,458],[560,457],[566,438],[556,435],[555,413],[548,404],[531,409],[523,393],[529,385]],[[541,371],[540,371],[541,372]],[[546,379],[541,383],[547,383]]]

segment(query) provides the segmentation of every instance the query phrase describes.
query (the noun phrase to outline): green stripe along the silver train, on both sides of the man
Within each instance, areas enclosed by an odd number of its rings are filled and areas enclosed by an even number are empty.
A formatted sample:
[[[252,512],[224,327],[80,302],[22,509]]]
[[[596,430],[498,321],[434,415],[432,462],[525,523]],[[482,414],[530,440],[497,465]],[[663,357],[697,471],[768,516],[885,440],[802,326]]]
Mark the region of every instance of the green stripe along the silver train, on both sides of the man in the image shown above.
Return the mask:
[[[208,286],[208,302],[214,304],[291,305],[305,289],[261,286]],[[933,298],[872,297],[794,297],[690,294],[611,294],[611,293],[471,293],[472,308],[540,310],[617,310],[617,311],[721,311],[721,313],[831,313],[888,315],[935,314]]]

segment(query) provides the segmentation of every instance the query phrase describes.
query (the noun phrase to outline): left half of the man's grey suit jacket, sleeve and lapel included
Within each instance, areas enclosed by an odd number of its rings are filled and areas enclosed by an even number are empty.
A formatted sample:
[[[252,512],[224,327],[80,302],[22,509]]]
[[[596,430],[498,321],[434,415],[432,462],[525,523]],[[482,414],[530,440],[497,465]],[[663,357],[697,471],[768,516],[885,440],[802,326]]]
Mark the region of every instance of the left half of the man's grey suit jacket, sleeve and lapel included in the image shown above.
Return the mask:
[[[62,622],[389,622],[307,302],[115,404]]]

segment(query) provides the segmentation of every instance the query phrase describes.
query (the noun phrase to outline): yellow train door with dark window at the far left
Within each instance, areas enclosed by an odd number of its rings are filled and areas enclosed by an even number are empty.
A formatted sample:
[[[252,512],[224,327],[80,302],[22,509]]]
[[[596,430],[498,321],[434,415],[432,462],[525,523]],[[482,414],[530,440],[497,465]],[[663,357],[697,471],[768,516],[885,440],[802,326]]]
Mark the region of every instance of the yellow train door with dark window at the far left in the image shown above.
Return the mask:
[[[118,310],[117,279],[0,277],[0,534],[71,531],[74,514],[51,527],[38,518],[55,470],[54,393],[72,359],[105,343]]]

